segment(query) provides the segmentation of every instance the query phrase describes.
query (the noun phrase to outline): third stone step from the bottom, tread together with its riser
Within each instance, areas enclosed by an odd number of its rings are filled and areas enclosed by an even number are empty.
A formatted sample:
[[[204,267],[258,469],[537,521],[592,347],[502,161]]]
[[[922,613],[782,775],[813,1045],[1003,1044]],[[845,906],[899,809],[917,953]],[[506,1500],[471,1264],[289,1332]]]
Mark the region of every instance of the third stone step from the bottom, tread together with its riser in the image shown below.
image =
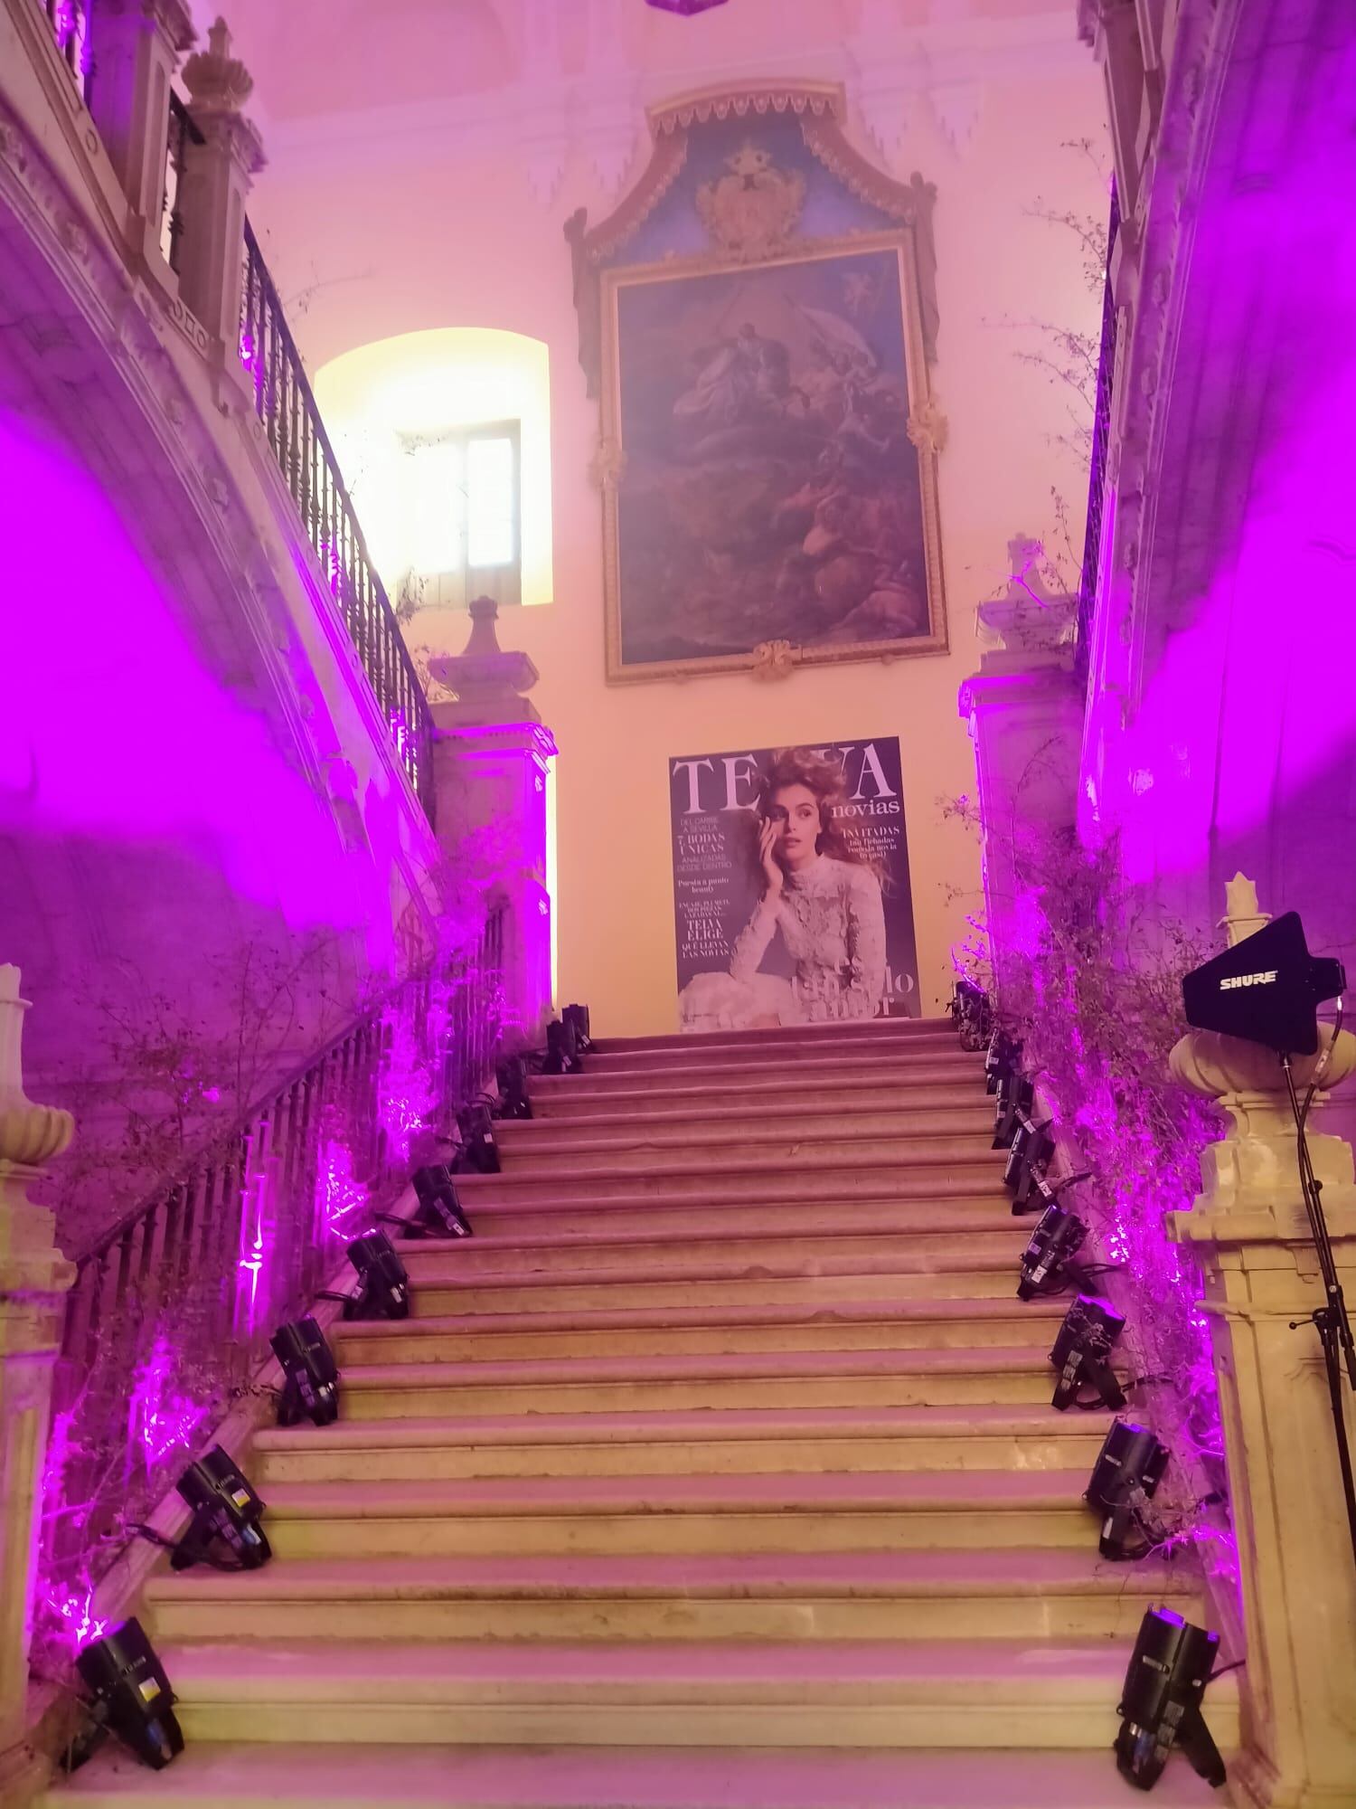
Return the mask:
[[[286,1559],[150,1577],[152,1639],[1132,1639],[1186,1568],[1096,1549]]]

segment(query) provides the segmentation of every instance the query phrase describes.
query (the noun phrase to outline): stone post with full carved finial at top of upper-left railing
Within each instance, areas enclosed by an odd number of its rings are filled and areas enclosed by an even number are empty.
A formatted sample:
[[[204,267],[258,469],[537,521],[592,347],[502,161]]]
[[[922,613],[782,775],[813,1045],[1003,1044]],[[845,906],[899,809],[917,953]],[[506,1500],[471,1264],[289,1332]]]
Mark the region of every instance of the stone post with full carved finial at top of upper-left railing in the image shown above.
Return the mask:
[[[255,83],[231,56],[224,20],[208,33],[208,49],[184,63],[184,81],[204,143],[184,147],[179,293],[217,342],[226,367],[239,373],[244,204],[251,177],[264,168],[264,147],[240,112]]]

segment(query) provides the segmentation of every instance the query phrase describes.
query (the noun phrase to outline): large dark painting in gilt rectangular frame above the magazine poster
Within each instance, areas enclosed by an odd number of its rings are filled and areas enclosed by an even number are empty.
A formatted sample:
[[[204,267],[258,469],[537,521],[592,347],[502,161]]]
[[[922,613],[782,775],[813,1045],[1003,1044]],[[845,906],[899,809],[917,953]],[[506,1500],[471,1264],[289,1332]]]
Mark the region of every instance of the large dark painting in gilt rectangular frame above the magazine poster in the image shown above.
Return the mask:
[[[857,333],[861,346],[853,346],[855,329],[841,311],[819,306],[833,279],[843,279],[844,286],[853,279],[859,288],[875,282],[880,291],[877,317]],[[598,280],[602,441],[595,476],[602,488],[607,678],[635,682],[739,671],[781,677],[797,664],[946,653],[937,474],[946,421],[929,385],[913,228],[790,241],[756,259],[732,259],[723,251],[665,257],[606,268]],[[814,297],[814,304],[801,297]],[[709,327],[716,317],[730,322],[723,335]],[[732,326],[736,318],[741,320],[738,327]],[[703,327],[705,346],[698,347]],[[691,382],[674,396],[680,378],[664,373],[676,365],[669,360],[665,367],[658,351],[689,342],[685,374]],[[645,356],[647,371],[642,369]],[[812,378],[819,380],[817,387]],[[645,391],[647,380],[654,396]],[[759,476],[754,458],[752,478],[749,458],[734,467],[716,459],[711,470],[703,470],[700,458],[702,447],[729,441],[741,431],[741,382],[749,396],[756,398],[759,385],[768,391],[761,423],[743,423],[745,443],[750,436],[758,443],[761,432],[767,447],[768,474]],[[786,411],[781,421],[768,412],[783,407],[777,391]],[[821,443],[815,454],[812,425],[821,420],[815,409],[824,394],[835,409],[835,427],[828,434],[833,445]],[[890,409],[886,427],[880,425],[882,407]],[[665,409],[673,420],[662,418]],[[799,418],[792,418],[792,409]],[[843,421],[853,411],[855,440],[844,479]],[[687,434],[680,447],[682,465],[665,458],[665,447],[680,431]],[[786,445],[792,445],[790,456]],[[886,450],[873,452],[873,445]],[[821,476],[826,459],[839,461],[835,478]],[[729,516],[732,508],[738,514],[738,503],[729,501],[725,474],[736,469],[745,488],[754,492],[749,514],[759,523],[767,557],[749,554],[747,546],[718,545],[721,532],[727,543],[732,539]],[[685,510],[676,530],[665,483]],[[759,483],[763,494],[758,494]],[[839,488],[828,494],[824,487],[832,483]],[[712,545],[702,539],[703,503],[721,517]],[[848,514],[846,523],[837,519],[833,525],[837,541],[826,526],[835,510],[839,517]],[[658,535],[647,528],[656,517],[662,521]],[[667,539],[667,568],[656,564],[664,557],[654,552],[656,539]],[[895,563],[900,548],[906,557]],[[871,570],[879,575],[862,577],[868,570],[862,561],[873,550]],[[702,595],[682,592],[687,573],[702,573]],[[835,579],[855,586],[844,592],[846,613],[839,624],[833,620]],[[698,639],[720,642],[721,584],[736,599],[730,602],[730,644],[712,651],[689,646],[683,635],[665,642],[664,624],[674,597],[682,597],[700,622]],[[877,588],[861,595],[870,584]],[[669,611],[662,622],[660,610]],[[812,633],[805,631],[806,622]]]

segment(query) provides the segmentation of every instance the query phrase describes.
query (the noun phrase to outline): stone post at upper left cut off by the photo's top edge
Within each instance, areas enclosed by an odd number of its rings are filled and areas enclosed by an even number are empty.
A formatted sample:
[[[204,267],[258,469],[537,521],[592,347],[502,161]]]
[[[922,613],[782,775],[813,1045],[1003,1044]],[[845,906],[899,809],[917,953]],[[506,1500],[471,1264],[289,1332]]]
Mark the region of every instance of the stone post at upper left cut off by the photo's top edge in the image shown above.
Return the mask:
[[[161,259],[170,78],[193,43],[184,0],[99,0],[92,16],[98,80],[90,109],[132,203],[146,259]]]

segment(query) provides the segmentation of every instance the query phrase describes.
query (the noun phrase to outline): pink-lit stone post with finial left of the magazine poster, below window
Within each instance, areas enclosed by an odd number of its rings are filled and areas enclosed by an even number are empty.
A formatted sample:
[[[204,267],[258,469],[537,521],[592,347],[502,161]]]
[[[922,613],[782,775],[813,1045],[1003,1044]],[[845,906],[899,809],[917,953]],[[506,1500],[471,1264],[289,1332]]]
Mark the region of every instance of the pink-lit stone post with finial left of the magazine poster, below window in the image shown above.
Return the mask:
[[[466,651],[428,662],[430,675],[456,691],[434,704],[434,787],[438,839],[456,859],[490,838],[488,901],[506,904],[504,1013],[524,1047],[546,1037],[551,1011],[551,897],[546,890],[546,781],[555,742],[523,695],[537,684],[526,653],[504,653],[495,635],[497,604],[470,606]]]

